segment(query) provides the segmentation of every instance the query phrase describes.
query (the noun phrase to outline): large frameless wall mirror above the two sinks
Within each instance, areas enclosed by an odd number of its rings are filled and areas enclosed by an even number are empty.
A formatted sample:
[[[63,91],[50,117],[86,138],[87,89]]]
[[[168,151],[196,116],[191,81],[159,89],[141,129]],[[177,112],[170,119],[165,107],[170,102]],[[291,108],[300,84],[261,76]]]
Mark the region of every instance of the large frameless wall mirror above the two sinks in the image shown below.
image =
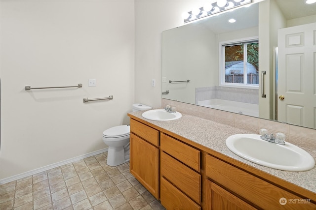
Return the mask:
[[[231,18],[236,20],[234,24],[228,22]],[[316,3],[307,5],[303,0],[262,0],[250,7],[163,31],[162,98],[315,129],[314,72],[311,72],[314,76],[303,75],[303,69],[295,70],[292,76],[288,76],[288,72],[284,73],[286,65],[295,68],[310,65],[308,68],[312,70],[315,61],[302,64],[302,56],[288,59],[277,41],[279,29],[285,29],[284,37],[279,40],[288,39],[294,45],[305,40],[304,44],[309,45],[306,37],[288,35],[299,32],[287,31],[288,28],[305,25],[307,28],[316,26]],[[259,84],[222,84],[219,73],[222,43],[256,38],[259,40],[259,68],[254,75]],[[284,60],[291,62],[285,63]],[[293,69],[288,71],[291,70],[293,73]],[[228,72],[230,76],[237,75],[234,71]],[[312,80],[304,82],[305,78]],[[303,87],[305,84],[309,86]],[[295,104],[292,100],[303,99],[292,99],[293,94],[287,94],[292,92],[294,95],[304,95],[307,89],[313,90],[306,102],[308,105]],[[262,97],[264,94],[266,97]],[[281,95],[285,99],[281,100]]]

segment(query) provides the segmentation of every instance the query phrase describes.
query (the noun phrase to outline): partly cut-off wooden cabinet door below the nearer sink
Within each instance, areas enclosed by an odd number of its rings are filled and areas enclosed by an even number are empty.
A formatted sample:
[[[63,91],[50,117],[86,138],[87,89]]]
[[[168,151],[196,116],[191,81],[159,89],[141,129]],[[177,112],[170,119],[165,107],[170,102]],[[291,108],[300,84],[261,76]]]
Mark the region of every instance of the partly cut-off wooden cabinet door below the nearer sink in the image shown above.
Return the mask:
[[[206,180],[207,205],[210,210],[256,210],[217,184]]]

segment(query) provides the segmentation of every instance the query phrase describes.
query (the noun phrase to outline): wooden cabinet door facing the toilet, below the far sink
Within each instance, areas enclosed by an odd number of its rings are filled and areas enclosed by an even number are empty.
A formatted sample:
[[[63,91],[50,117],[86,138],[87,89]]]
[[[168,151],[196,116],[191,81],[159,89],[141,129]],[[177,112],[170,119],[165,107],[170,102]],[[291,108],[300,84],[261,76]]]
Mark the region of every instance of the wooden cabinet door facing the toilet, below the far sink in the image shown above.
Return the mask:
[[[158,154],[158,148],[130,134],[130,173],[157,199]]]

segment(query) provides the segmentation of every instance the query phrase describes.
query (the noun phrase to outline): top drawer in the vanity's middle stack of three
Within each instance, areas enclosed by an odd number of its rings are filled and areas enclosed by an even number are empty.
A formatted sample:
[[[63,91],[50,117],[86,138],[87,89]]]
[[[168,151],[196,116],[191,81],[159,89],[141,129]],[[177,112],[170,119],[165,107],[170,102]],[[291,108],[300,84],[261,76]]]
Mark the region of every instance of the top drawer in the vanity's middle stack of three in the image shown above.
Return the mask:
[[[160,149],[199,172],[199,150],[196,150],[186,144],[183,144],[182,142],[163,133],[160,134]]]

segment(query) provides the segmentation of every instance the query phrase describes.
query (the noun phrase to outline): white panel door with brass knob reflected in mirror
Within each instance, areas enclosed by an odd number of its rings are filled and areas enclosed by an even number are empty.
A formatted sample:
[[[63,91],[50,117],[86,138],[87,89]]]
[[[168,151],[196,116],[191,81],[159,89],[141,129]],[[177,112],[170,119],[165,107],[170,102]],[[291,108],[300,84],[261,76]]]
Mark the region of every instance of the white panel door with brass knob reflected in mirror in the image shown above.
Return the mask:
[[[280,29],[277,40],[277,120],[316,128],[316,23]]]

